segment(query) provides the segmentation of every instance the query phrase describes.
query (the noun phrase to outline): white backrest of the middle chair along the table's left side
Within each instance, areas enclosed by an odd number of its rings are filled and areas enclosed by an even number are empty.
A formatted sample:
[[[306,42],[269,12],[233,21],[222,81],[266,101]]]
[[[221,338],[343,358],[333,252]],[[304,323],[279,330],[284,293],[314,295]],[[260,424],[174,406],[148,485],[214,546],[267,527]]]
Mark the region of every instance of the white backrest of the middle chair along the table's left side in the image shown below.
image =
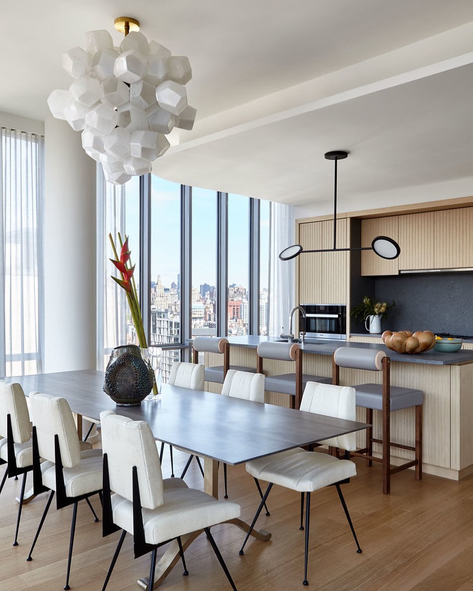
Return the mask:
[[[50,462],[56,461],[54,436],[57,435],[63,466],[77,466],[80,463],[79,436],[67,400],[41,392],[31,392],[30,408],[40,456]]]

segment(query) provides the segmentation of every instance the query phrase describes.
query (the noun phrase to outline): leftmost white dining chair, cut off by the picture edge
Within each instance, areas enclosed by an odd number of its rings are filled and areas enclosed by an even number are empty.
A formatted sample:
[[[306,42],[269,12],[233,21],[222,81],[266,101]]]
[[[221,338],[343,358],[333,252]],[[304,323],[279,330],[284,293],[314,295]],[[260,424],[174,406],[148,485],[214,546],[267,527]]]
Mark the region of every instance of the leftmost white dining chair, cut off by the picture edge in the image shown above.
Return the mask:
[[[33,446],[31,444],[30,414],[26,397],[20,384],[0,382],[0,464],[7,469],[0,483],[0,493],[5,480],[23,475],[18,504],[17,527],[13,545],[18,545],[21,508],[25,495],[28,472],[33,470]]]

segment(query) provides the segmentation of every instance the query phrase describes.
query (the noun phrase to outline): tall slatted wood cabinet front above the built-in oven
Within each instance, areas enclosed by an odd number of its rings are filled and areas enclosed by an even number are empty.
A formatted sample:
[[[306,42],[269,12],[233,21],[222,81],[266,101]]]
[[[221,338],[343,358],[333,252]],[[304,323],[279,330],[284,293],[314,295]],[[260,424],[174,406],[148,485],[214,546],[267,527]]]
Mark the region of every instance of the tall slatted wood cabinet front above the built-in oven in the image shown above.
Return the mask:
[[[348,246],[346,218],[337,220],[336,248]],[[333,220],[299,225],[304,249],[333,248]],[[313,252],[299,256],[299,302],[345,304],[348,277],[347,252]]]

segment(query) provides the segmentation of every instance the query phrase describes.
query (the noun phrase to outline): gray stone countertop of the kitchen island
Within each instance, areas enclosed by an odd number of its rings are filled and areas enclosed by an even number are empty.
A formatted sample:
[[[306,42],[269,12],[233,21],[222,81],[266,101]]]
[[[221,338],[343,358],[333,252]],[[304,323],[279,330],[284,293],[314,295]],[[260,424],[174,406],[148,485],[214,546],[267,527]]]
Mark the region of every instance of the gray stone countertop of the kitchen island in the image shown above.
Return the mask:
[[[366,335],[365,335],[366,336]],[[231,336],[228,342],[232,346],[248,347],[255,349],[262,341],[279,341],[278,337],[267,336]],[[318,343],[305,343],[301,345],[304,353],[313,353],[314,355],[332,355],[338,347],[357,347],[361,349],[380,349],[385,351],[391,361],[401,363],[430,363],[432,365],[455,365],[458,363],[473,363],[473,350],[460,349],[455,353],[439,353],[430,349],[425,353],[404,354],[391,351],[387,346],[381,343],[349,343],[344,340],[320,339]]]

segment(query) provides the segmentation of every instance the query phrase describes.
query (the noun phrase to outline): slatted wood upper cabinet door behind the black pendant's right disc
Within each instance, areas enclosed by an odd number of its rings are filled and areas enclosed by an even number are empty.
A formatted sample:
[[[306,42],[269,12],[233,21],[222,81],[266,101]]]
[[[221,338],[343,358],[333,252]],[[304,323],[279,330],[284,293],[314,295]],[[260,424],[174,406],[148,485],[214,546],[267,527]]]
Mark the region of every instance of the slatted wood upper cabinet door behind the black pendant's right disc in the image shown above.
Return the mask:
[[[375,236],[389,236],[399,243],[399,217],[370,217],[361,220],[361,246],[371,246]],[[403,250],[402,245],[401,252]],[[399,259],[388,261],[374,254],[374,251],[361,252],[362,275],[397,275]]]

